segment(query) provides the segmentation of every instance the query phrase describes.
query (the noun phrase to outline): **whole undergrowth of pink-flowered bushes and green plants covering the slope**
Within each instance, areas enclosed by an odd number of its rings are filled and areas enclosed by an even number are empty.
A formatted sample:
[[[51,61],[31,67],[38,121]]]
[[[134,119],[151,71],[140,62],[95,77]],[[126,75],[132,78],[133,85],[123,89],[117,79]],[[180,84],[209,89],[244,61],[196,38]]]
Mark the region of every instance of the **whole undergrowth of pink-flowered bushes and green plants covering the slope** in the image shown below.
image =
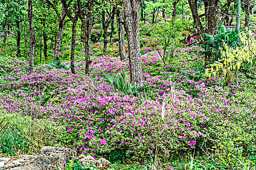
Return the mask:
[[[117,45],[106,56],[101,48],[92,46],[90,76],[81,51],[76,74],[64,61],[27,75],[27,60],[0,55],[1,156],[65,146],[116,170],[256,166],[255,72],[241,70],[237,84],[206,79],[200,47],[176,48],[164,64],[149,44],[141,48],[144,89],[127,95],[100,72],[129,80],[129,62]]]

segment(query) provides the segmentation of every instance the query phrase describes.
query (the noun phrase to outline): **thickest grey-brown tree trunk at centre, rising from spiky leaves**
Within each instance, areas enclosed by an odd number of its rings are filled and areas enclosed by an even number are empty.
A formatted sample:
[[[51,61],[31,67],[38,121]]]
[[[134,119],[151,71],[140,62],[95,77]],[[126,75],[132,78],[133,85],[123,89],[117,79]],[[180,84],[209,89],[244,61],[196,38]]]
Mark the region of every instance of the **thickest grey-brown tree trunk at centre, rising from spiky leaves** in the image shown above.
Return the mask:
[[[123,0],[124,26],[129,47],[131,83],[142,86],[142,64],[139,45],[139,0]]]

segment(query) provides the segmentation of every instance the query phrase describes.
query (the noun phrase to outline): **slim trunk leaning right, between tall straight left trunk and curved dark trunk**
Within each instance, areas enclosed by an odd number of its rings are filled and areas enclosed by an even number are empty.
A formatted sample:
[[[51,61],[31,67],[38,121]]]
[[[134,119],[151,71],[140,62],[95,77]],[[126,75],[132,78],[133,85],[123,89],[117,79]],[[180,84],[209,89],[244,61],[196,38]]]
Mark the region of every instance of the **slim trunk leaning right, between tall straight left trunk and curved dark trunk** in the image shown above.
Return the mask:
[[[65,16],[66,16],[65,10],[62,8],[61,19],[59,20],[59,32],[58,32],[57,40],[55,42],[54,60],[57,60],[57,61],[59,61],[59,50],[60,50],[60,45],[62,40],[63,28],[65,24]]]

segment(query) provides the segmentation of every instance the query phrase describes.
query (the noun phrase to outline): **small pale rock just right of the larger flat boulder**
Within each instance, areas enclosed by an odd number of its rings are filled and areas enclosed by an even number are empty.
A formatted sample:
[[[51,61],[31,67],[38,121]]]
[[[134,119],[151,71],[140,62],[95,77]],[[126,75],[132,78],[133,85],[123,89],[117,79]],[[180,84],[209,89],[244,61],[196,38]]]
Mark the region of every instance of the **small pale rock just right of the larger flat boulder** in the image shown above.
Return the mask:
[[[93,166],[100,170],[107,170],[108,168],[111,168],[111,163],[106,160],[105,158],[100,158],[98,160],[94,159],[91,155],[83,155],[81,154],[77,160],[83,165],[83,166]]]

